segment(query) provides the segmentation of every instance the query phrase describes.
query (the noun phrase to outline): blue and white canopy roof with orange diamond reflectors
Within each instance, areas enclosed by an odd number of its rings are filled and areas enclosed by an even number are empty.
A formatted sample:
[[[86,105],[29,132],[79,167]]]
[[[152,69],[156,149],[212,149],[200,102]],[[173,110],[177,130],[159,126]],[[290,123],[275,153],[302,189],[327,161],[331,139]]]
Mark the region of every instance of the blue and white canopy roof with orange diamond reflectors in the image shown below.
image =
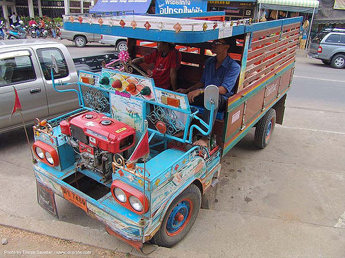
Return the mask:
[[[210,16],[212,15],[210,14]],[[199,19],[183,19],[183,15],[180,15],[180,18],[172,18],[162,17],[161,15],[129,14],[104,16],[95,14],[70,14],[63,17],[63,28],[65,30],[79,32],[125,36],[146,41],[200,43],[236,36],[246,32],[282,27],[283,25],[301,21],[302,17],[251,23],[251,19],[238,21],[205,21]]]

